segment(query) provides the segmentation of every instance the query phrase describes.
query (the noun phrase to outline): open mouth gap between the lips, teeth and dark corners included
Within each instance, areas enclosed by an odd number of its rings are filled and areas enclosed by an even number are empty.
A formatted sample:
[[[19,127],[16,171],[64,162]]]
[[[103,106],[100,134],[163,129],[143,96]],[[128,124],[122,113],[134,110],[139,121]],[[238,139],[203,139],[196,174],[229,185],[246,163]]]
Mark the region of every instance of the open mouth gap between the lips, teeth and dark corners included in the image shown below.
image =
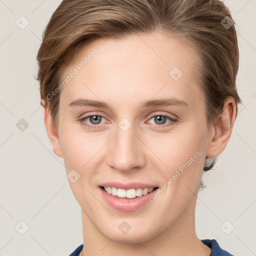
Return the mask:
[[[123,198],[123,199],[143,197],[144,195],[147,195],[158,188],[158,186],[144,187],[144,188],[138,187],[138,188],[130,188],[130,189],[123,189],[123,188],[111,187],[111,186],[99,186],[99,187],[104,192],[111,194],[114,197]]]

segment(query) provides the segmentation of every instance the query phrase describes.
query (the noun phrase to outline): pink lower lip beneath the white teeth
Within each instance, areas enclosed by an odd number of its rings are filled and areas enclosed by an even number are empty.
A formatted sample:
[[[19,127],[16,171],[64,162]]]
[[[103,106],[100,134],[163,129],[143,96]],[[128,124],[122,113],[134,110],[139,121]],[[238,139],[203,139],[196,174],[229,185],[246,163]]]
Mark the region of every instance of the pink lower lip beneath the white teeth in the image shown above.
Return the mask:
[[[99,187],[99,190],[101,191],[101,194],[106,202],[115,209],[122,211],[133,211],[141,208],[149,201],[149,197],[152,196],[158,189],[159,188],[156,188],[150,193],[141,195],[139,197],[125,199],[109,194],[104,189]]]

